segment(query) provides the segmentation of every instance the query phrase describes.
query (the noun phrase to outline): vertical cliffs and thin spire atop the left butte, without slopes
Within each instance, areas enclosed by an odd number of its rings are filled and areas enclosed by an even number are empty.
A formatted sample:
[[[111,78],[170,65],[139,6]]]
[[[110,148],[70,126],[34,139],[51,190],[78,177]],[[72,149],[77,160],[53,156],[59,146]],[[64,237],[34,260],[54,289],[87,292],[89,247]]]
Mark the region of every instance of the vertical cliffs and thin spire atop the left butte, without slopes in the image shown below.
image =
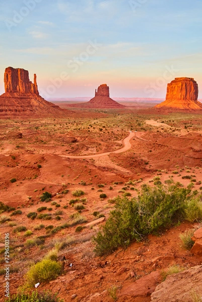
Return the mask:
[[[7,67],[4,73],[6,93],[36,94],[39,95],[34,74],[34,84],[29,79],[28,70],[22,68]]]

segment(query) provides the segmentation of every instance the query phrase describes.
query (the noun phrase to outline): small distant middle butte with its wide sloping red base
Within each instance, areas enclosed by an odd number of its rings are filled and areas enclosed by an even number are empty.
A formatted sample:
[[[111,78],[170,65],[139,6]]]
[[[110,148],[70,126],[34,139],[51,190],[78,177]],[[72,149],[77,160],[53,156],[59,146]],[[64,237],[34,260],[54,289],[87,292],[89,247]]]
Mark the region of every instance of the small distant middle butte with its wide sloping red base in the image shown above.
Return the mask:
[[[89,102],[80,104],[71,104],[71,107],[85,107],[85,108],[125,108],[125,106],[112,100],[109,97],[109,87],[106,84],[102,84],[95,90],[95,97]]]

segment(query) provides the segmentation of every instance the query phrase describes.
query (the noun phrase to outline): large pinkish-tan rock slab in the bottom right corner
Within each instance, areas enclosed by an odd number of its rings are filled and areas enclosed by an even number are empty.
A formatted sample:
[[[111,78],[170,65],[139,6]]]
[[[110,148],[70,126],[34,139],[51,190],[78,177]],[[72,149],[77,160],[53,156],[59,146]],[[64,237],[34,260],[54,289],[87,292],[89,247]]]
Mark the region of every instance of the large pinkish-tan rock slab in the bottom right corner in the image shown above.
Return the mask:
[[[154,302],[200,301],[202,266],[194,266],[178,274],[170,275],[159,284],[151,295]]]

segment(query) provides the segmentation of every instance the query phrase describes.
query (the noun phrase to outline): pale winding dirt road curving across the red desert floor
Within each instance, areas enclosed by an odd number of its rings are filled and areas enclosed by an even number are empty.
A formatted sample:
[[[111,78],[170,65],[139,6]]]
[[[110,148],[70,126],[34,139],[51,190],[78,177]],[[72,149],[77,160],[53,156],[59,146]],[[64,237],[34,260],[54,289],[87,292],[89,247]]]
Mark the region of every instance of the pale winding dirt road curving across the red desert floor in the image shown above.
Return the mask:
[[[134,132],[129,132],[129,135],[123,139],[123,147],[118,150],[115,150],[115,151],[105,152],[105,153],[100,153],[100,154],[92,154],[92,155],[81,155],[81,156],[80,155],[79,156],[62,155],[62,157],[70,158],[70,159],[93,159],[93,158],[103,157],[103,156],[113,154],[113,153],[115,153],[115,154],[122,153],[131,148],[130,139],[134,135],[136,135]]]

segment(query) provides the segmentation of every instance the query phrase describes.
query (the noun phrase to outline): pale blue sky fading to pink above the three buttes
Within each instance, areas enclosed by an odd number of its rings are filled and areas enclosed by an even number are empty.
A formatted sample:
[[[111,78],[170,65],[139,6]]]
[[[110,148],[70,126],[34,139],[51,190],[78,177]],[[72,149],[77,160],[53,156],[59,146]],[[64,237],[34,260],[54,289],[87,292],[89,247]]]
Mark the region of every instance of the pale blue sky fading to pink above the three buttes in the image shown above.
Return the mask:
[[[201,0],[1,0],[0,93],[8,66],[37,74],[40,95],[165,99],[174,78],[202,98]]]

